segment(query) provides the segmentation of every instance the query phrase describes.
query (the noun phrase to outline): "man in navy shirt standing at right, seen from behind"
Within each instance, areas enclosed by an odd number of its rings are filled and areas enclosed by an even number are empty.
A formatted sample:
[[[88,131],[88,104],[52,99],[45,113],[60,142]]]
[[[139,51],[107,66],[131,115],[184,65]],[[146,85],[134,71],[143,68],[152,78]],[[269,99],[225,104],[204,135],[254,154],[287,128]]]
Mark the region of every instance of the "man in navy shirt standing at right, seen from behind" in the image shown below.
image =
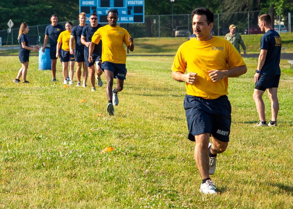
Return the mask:
[[[279,111],[277,91],[281,75],[282,39],[279,33],[272,28],[272,20],[269,14],[259,16],[258,24],[261,31],[265,32],[265,34],[260,40],[260,55],[254,75],[255,88],[253,99],[259,115],[259,122],[255,126],[277,126]],[[272,119],[269,124],[265,120],[265,104],[262,98],[265,90],[268,91],[272,109]]]

